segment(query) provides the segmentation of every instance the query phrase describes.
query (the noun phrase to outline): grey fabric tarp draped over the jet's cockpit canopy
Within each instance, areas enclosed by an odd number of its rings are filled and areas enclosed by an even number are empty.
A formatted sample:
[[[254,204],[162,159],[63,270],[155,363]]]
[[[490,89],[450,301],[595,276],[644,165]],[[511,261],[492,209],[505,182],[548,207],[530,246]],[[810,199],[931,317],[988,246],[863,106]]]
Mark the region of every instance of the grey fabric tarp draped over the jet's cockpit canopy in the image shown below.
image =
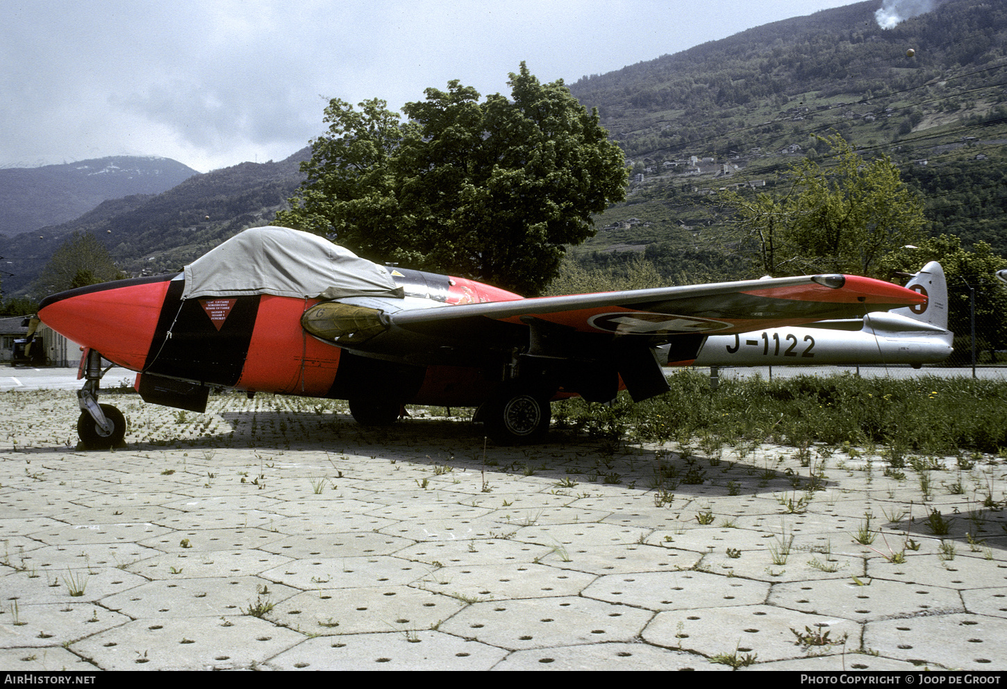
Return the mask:
[[[184,274],[182,299],[403,296],[384,267],[316,234],[287,227],[246,229],[186,266]]]

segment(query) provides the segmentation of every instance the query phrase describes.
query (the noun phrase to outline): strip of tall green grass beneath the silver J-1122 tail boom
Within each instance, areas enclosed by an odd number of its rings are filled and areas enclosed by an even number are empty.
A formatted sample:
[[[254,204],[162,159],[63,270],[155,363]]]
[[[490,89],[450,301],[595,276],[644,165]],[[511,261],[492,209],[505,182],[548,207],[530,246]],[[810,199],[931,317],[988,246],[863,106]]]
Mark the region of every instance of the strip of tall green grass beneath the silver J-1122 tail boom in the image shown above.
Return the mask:
[[[622,426],[629,440],[651,443],[706,437],[733,446],[768,439],[798,448],[875,444],[936,456],[1007,448],[1007,382],[998,380],[801,375],[721,378],[711,390],[707,375],[683,370],[669,383],[669,393],[639,404],[620,396],[618,410],[609,409],[619,423],[606,428],[608,437]],[[556,407],[570,425],[592,430],[594,405],[571,399]]]

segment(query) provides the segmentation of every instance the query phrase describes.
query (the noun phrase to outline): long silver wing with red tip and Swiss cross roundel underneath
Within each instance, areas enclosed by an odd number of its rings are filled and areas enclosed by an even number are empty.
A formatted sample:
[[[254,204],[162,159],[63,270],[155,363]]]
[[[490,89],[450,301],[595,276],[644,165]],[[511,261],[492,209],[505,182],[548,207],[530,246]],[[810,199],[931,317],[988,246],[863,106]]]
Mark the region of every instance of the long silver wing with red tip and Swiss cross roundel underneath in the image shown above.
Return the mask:
[[[925,303],[897,285],[856,276],[822,275],[520,299],[388,314],[392,326],[464,331],[474,320],[552,323],[578,332],[672,336],[742,333],[827,319],[862,317]]]

